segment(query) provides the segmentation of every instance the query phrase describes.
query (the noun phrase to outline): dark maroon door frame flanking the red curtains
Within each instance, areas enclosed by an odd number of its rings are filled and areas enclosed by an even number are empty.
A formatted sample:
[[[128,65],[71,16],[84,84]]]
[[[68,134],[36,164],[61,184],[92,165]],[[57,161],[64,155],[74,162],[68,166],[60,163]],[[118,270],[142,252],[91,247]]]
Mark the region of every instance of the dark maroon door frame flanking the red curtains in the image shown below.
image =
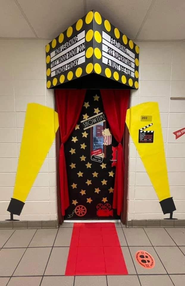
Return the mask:
[[[128,100],[128,108],[130,108],[130,97]],[[57,112],[57,102],[55,98],[55,111]],[[123,151],[124,151],[124,193],[123,193],[123,210],[121,212],[121,222],[126,224],[127,219],[127,194],[128,194],[128,149],[129,149],[129,131],[125,124],[125,130],[123,135]],[[60,196],[60,176],[59,176],[59,150],[60,150],[61,140],[59,128],[56,133],[56,164],[57,164],[57,213],[58,213],[58,223],[62,224],[64,217],[61,212],[61,196]]]

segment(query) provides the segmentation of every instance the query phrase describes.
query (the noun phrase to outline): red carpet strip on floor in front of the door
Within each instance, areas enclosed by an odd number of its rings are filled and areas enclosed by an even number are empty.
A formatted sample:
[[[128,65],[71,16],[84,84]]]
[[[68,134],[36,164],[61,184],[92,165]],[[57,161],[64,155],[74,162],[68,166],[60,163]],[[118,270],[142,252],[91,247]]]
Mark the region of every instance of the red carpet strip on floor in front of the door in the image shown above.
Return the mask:
[[[65,275],[127,275],[114,223],[74,223]]]

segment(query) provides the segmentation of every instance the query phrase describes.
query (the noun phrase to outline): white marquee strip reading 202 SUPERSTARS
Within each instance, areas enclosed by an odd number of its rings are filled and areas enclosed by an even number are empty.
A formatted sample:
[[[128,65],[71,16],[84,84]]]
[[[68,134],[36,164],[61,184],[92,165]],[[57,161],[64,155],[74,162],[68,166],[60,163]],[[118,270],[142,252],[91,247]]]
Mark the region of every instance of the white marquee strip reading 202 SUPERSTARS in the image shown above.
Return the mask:
[[[126,57],[123,58],[126,62],[131,63],[131,66],[129,66],[126,63],[123,63],[121,60],[117,59],[117,56],[119,56],[119,55],[116,54],[117,52],[115,52],[113,50],[109,50],[109,47],[105,46],[104,44],[102,45],[102,51],[103,51],[102,55],[104,55],[105,57],[108,57],[111,60],[114,60],[115,62],[119,63],[120,65],[125,66],[127,69],[130,69],[131,71],[134,71],[135,64],[133,62],[131,62],[131,60],[128,60]],[[113,51],[113,52],[111,52],[111,51]],[[110,55],[110,52],[111,52],[111,55]],[[119,57],[122,58],[123,56],[120,55]]]

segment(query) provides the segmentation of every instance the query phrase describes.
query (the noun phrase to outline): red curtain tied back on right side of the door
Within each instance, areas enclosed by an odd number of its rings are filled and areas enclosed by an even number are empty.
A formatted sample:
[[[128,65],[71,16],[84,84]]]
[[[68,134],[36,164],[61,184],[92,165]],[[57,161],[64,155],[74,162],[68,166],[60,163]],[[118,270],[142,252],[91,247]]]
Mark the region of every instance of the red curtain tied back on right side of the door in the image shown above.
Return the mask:
[[[101,90],[101,97],[104,105],[107,121],[116,141],[117,165],[115,174],[115,186],[113,196],[113,209],[117,209],[117,215],[121,214],[124,192],[124,157],[122,139],[125,128],[126,111],[130,90]]]

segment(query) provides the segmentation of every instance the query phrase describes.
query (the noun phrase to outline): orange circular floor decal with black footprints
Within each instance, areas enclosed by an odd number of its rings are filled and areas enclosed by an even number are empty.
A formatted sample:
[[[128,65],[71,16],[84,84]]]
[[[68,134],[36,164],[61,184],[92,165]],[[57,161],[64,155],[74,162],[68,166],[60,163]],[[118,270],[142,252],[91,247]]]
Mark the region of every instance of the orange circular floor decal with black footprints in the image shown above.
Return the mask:
[[[136,252],[136,261],[144,268],[152,269],[155,266],[153,256],[145,250],[139,250]]]

